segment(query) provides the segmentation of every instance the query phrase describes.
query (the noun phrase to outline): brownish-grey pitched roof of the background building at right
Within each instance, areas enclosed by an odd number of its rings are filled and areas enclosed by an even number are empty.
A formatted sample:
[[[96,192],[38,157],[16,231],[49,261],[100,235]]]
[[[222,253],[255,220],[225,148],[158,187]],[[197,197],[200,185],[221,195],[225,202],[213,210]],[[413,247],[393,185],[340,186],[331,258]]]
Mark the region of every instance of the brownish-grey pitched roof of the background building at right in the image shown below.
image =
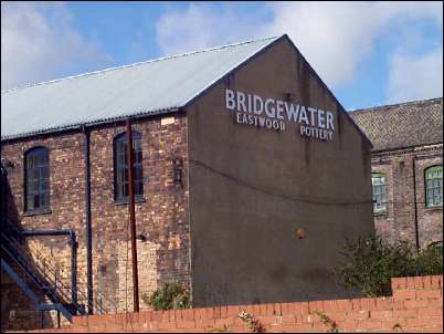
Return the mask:
[[[443,98],[413,101],[350,112],[373,144],[387,150],[443,143]]]

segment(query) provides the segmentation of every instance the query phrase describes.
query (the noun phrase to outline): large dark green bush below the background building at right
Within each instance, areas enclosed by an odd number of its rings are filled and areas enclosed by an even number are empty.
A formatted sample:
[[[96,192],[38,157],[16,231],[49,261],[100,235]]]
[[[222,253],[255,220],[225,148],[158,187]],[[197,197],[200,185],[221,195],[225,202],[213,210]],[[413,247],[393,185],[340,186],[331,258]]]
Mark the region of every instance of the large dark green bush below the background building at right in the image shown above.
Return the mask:
[[[417,252],[406,242],[387,244],[378,237],[347,240],[345,261],[335,269],[339,284],[367,296],[390,295],[391,278],[443,273],[443,247],[435,243]]]

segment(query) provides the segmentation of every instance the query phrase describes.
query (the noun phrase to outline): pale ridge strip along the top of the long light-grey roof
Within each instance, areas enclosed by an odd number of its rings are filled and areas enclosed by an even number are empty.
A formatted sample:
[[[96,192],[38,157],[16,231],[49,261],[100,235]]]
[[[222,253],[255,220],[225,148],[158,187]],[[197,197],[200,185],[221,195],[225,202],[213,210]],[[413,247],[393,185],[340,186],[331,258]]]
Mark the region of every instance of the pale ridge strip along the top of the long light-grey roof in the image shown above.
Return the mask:
[[[220,46],[212,46],[212,48],[208,48],[208,49],[203,49],[203,50],[197,50],[197,51],[191,51],[191,52],[184,52],[184,53],[178,53],[178,54],[173,54],[173,55],[161,56],[161,58],[151,59],[151,60],[147,60],[147,61],[142,61],[142,62],[137,62],[137,63],[133,63],[133,64],[114,66],[114,67],[108,67],[108,69],[104,69],[104,70],[92,71],[92,72],[81,73],[81,74],[76,74],[76,75],[70,75],[70,76],[65,76],[65,77],[60,77],[60,79],[54,79],[54,80],[50,80],[50,81],[28,84],[28,85],[23,85],[23,86],[13,87],[13,88],[8,88],[8,90],[1,91],[1,94],[14,92],[14,91],[20,91],[20,90],[24,90],[24,88],[30,88],[30,87],[34,87],[34,86],[39,86],[39,85],[53,84],[53,83],[57,83],[57,82],[61,82],[61,81],[64,81],[64,80],[78,79],[78,77],[89,76],[89,75],[99,74],[99,73],[104,73],[104,72],[110,72],[110,71],[121,70],[121,69],[126,69],[126,67],[134,67],[134,66],[139,66],[139,65],[144,65],[144,64],[148,64],[148,63],[166,61],[166,60],[170,60],[170,59],[175,59],[175,58],[189,56],[189,55],[193,55],[193,54],[198,54],[198,53],[210,52],[210,51],[215,51],[215,50],[222,50],[222,49],[225,49],[225,48],[232,48],[232,46],[239,46],[239,45],[243,45],[243,44],[256,43],[256,42],[262,42],[262,41],[266,41],[266,40],[276,40],[277,38],[279,38],[279,36],[275,35],[275,36],[269,36],[269,38],[249,40],[249,41],[230,43],[230,44],[220,45]]]

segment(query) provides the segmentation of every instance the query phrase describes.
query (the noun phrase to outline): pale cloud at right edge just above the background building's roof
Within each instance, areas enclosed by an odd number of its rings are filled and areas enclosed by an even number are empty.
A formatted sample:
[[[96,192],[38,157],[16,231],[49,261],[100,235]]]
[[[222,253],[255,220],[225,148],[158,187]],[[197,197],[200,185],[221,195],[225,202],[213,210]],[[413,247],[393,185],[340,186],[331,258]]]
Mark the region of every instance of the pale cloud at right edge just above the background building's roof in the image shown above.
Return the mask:
[[[388,102],[443,96],[443,48],[414,56],[395,53],[391,60]]]

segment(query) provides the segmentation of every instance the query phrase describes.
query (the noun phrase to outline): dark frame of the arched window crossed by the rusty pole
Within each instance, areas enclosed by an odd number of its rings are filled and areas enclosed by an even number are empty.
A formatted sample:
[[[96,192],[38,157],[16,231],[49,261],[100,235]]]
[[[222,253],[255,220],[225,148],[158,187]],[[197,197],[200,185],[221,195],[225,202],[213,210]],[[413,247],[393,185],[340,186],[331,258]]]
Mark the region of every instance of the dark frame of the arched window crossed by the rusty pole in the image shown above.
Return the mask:
[[[126,137],[127,137],[126,132],[123,132],[123,133],[114,136],[114,139],[113,139],[113,174],[114,174],[114,176],[113,176],[113,178],[114,178],[114,181],[113,181],[114,191],[113,192],[114,192],[114,201],[117,205],[128,202],[128,196],[119,196],[119,192],[118,192],[118,188],[119,188],[118,169],[121,168],[121,166],[125,166],[124,167],[125,169],[127,169],[128,167],[126,165],[126,155],[125,155],[125,158],[124,158],[124,164],[123,165],[118,164],[119,161],[118,161],[118,153],[117,153],[118,147],[117,146],[118,146],[119,143],[124,143],[124,145],[128,145]],[[135,155],[134,155],[135,159],[134,159],[134,165],[133,166],[135,166],[135,167],[139,166],[139,168],[140,168],[140,177],[141,177],[140,179],[138,179],[136,177],[134,179],[135,184],[139,182],[139,185],[140,185],[139,188],[134,187],[134,189],[135,189],[135,199],[136,199],[136,201],[142,201],[144,200],[144,198],[142,198],[142,196],[144,196],[144,164],[142,164],[144,156],[141,155],[140,161],[136,161],[136,159],[137,159],[137,157],[136,157],[137,154],[136,153],[137,152],[135,149],[136,148],[135,140],[137,140],[137,139],[140,140],[140,153],[142,153],[142,149],[141,149],[141,134],[139,132],[137,132],[137,131],[133,131],[133,149],[134,149],[134,153],[135,153]],[[134,167],[134,169],[136,169],[135,167]],[[124,182],[125,182],[125,180],[124,180]],[[140,189],[140,194],[136,192],[137,189]]]

